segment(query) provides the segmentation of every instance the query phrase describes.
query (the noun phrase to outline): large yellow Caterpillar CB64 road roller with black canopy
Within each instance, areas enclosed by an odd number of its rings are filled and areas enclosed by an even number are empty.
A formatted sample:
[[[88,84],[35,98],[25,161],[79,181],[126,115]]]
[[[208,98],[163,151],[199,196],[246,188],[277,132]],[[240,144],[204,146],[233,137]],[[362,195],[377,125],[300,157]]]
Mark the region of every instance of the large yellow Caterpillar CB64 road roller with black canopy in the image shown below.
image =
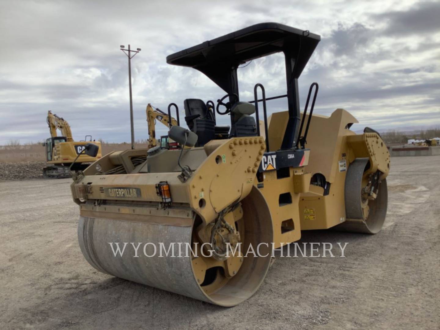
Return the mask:
[[[74,178],[86,260],[109,275],[234,306],[263,282],[271,250],[302,229],[377,232],[389,172],[379,134],[350,131],[356,119],[345,110],[314,115],[317,84],[310,111],[312,88],[300,111],[298,78],[319,40],[261,23],[169,55],[169,64],[199,70],[226,95],[216,104],[183,101],[188,129],[169,130],[179,148],[114,151]],[[256,84],[254,99],[241,101],[238,66],[278,52],[287,93],[266,97]],[[287,111],[268,117],[266,102],[280,98]],[[216,125],[221,115],[229,126]],[[185,247],[191,253],[182,255]],[[258,253],[248,256],[251,248]]]

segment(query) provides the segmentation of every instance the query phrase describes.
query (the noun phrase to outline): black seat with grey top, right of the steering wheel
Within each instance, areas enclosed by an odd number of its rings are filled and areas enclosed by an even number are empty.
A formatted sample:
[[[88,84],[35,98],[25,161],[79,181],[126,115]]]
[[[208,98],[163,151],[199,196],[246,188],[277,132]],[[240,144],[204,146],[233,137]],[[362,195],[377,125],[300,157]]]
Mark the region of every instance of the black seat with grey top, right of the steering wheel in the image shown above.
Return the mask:
[[[230,137],[257,136],[257,124],[251,115],[255,113],[255,106],[248,102],[237,102],[231,108],[234,123]]]

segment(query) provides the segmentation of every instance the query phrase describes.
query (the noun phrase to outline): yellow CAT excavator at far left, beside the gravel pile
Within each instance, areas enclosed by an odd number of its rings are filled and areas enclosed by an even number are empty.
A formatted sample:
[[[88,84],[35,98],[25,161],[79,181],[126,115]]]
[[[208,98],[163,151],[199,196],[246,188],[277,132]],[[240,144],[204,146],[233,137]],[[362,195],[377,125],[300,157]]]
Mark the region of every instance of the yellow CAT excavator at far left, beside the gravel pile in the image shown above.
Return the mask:
[[[47,123],[51,137],[46,139],[43,146],[46,147],[46,161],[48,166],[43,168],[45,178],[68,178],[71,170],[81,171],[86,169],[91,162],[102,157],[101,143],[93,141],[99,147],[98,154],[91,157],[84,154],[87,143],[92,141],[92,136],[85,136],[84,141],[73,141],[69,123],[62,117],[48,111]],[[58,136],[58,130],[61,136]],[[78,158],[77,158],[78,157]],[[77,161],[75,159],[77,158]]]

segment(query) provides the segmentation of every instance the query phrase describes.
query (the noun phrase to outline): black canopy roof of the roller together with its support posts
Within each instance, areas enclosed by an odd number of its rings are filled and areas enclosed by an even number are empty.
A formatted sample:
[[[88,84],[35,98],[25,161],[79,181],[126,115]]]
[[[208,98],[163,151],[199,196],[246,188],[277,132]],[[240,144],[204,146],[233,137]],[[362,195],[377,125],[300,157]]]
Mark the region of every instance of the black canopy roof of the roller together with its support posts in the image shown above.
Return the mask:
[[[238,94],[238,65],[252,59],[283,52],[286,63],[286,87],[289,120],[282,149],[296,146],[300,122],[298,77],[321,40],[317,34],[279,23],[249,26],[197,46],[167,56],[169,64],[189,66],[205,73],[229,95]],[[235,99],[234,102],[236,102]],[[234,116],[231,116],[234,125]]]

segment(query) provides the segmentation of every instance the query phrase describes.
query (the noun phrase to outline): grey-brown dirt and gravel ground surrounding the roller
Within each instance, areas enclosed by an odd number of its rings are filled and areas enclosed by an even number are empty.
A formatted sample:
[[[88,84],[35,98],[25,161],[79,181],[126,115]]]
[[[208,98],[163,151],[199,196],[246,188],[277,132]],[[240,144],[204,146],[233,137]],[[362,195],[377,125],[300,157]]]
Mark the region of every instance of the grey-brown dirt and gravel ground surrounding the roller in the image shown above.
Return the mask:
[[[392,158],[379,234],[303,232],[300,243],[348,242],[346,257],[277,257],[233,308],[92,268],[70,179],[1,182],[0,329],[439,329],[439,164]]]

